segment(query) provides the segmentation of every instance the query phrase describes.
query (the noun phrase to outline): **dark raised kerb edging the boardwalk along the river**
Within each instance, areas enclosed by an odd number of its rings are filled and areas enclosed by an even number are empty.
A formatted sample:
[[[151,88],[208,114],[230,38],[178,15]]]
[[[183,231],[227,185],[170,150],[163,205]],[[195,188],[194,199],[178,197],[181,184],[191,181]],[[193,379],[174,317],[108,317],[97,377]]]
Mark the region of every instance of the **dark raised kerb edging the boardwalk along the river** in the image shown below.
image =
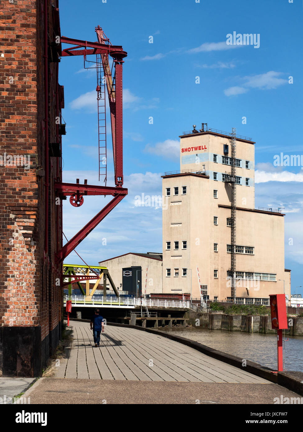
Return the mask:
[[[89,320],[84,319],[73,319],[73,321],[83,321],[89,322]],[[266,368],[258,363],[246,360],[246,366],[242,366],[243,359],[240,357],[232,356],[231,354],[223,353],[217,349],[213,349],[209,346],[203,345],[199,342],[194,342],[192,340],[186,339],[182,336],[175,336],[173,334],[165,333],[153,328],[140,327],[137,325],[130,324],[120,324],[120,323],[110,323],[107,325],[114,325],[116,327],[128,327],[134,328],[136,330],[147,331],[148,333],[157,334],[159,336],[166,337],[168,339],[174,340],[175,342],[182,343],[183,345],[190,346],[191,348],[197,349],[200,353],[203,353],[209,357],[220,360],[221,362],[227,363],[229,365],[235,366],[236,368],[242,369],[246,372],[250,372],[260,378],[264,378],[274,384],[279,384],[288,390],[291,390],[297,394],[303,396],[303,372],[278,372],[275,373],[271,368]]]

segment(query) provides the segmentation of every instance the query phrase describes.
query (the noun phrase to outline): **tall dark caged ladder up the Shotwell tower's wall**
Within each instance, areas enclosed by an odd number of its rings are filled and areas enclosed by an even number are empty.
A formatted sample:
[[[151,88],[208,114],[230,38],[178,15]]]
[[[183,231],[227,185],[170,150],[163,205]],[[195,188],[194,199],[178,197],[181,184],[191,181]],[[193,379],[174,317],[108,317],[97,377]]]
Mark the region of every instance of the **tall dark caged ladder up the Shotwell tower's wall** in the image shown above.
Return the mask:
[[[230,273],[232,276],[231,297],[236,303],[236,128],[232,129],[231,139],[231,203],[230,203]]]

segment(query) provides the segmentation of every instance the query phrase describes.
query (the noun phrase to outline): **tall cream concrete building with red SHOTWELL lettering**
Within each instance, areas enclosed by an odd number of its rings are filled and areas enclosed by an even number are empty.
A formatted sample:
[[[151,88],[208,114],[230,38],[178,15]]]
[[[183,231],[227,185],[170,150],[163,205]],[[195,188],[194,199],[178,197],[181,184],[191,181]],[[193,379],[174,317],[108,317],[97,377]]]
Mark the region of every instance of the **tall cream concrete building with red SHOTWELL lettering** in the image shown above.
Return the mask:
[[[203,128],[203,127],[202,127]],[[290,299],[284,214],[255,209],[255,146],[236,137],[236,303]],[[231,135],[202,129],[180,136],[180,171],[163,176],[163,292],[231,300]],[[197,267],[200,275],[198,281]]]

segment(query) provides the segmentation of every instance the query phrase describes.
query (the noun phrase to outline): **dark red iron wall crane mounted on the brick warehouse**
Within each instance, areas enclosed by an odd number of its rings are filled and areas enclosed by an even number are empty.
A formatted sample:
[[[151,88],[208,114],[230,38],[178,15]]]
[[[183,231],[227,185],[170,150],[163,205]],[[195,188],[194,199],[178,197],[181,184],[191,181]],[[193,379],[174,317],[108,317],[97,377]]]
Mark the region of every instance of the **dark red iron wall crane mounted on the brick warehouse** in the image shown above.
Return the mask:
[[[61,44],[73,45],[62,50],[61,57],[73,57],[83,55],[96,55],[97,69],[97,101],[98,101],[98,140],[99,140],[99,180],[105,176],[106,184],[106,114],[105,114],[105,85],[108,92],[109,109],[112,125],[112,145],[115,170],[115,187],[92,186],[79,183],[55,183],[55,191],[58,197],[70,196],[70,203],[79,207],[83,204],[85,195],[112,195],[113,199],[99,213],[90,220],[76,235],[57,251],[56,264],[59,265],[73,251],[74,248],[105,218],[106,215],[127,195],[128,190],[123,186],[123,125],[122,125],[122,65],[127,53],[120,45],[112,45],[106,38],[103,30],[96,27],[98,42],[81,41],[78,39],[61,36]],[[109,67],[108,56],[113,58],[114,73]],[[102,79],[102,72],[104,79]],[[102,89],[102,86],[103,89]],[[101,102],[100,102],[101,101]],[[104,163],[105,162],[105,163]],[[102,165],[105,165],[102,166]],[[104,169],[105,168],[105,169]]]

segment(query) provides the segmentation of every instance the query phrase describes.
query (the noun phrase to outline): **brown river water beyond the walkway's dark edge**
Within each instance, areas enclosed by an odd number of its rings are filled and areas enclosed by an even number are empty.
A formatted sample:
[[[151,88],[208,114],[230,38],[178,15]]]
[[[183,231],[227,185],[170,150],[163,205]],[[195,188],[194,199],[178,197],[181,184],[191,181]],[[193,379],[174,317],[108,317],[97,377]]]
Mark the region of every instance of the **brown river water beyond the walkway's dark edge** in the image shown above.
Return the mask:
[[[277,370],[277,335],[244,333],[240,331],[209,330],[207,328],[162,328],[176,336],[186,337],[203,345],[251,360]],[[288,338],[288,340],[287,340]],[[286,336],[284,342],[284,369],[303,372],[303,337]]]

